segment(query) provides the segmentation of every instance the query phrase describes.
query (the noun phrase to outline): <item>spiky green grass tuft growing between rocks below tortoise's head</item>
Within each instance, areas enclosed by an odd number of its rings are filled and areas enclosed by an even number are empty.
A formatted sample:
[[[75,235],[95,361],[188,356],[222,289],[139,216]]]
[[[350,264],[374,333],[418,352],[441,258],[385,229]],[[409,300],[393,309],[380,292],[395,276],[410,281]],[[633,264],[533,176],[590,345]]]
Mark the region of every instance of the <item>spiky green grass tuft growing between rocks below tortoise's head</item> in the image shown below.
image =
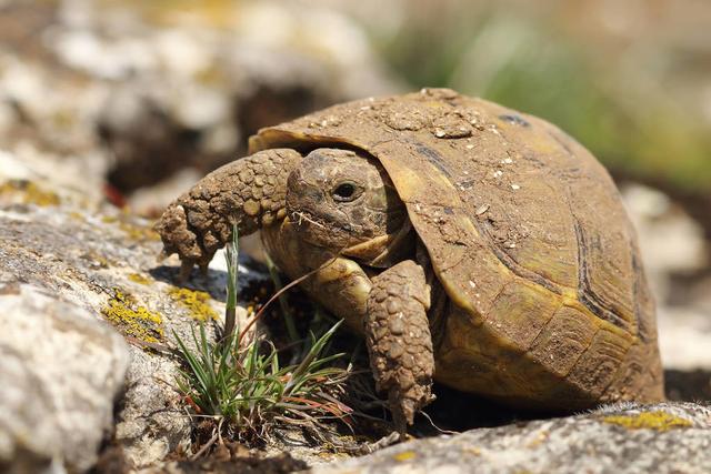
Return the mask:
[[[271,342],[259,336],[244,337],[249,325],[236,327],[236,230],[227,261],[226,327],[221,339],[212,341],[202,322],[197,331],[193,327],[190,343],[173,333],[177,353],[183,362],[177,385],[191,415],[216,422],[217,436],[211,442],[222,435],[263,442],[278,426],[298,426],[319,436],[327,420],[338,418],[348,424],[352,410],[339,399],[344,395],[351,370],[330,366],[343,354],[327,355],[341,322],[318,337],[311,333],[301,341],[303,356],[282,366]],[[206,446],[200,450],[204,451]]]

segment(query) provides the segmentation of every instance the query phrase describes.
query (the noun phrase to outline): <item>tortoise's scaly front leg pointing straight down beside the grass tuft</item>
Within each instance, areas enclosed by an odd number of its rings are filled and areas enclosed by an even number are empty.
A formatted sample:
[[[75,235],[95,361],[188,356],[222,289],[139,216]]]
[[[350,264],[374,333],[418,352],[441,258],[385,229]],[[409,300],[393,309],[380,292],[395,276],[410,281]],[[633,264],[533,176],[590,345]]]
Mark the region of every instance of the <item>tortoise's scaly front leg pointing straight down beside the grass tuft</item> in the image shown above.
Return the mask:
[[[424,270],[405,260],[372,279],[365,337],[379,391],[388,391],[395,428],[404,434],[414,414],[434,397],[432,336]]]

